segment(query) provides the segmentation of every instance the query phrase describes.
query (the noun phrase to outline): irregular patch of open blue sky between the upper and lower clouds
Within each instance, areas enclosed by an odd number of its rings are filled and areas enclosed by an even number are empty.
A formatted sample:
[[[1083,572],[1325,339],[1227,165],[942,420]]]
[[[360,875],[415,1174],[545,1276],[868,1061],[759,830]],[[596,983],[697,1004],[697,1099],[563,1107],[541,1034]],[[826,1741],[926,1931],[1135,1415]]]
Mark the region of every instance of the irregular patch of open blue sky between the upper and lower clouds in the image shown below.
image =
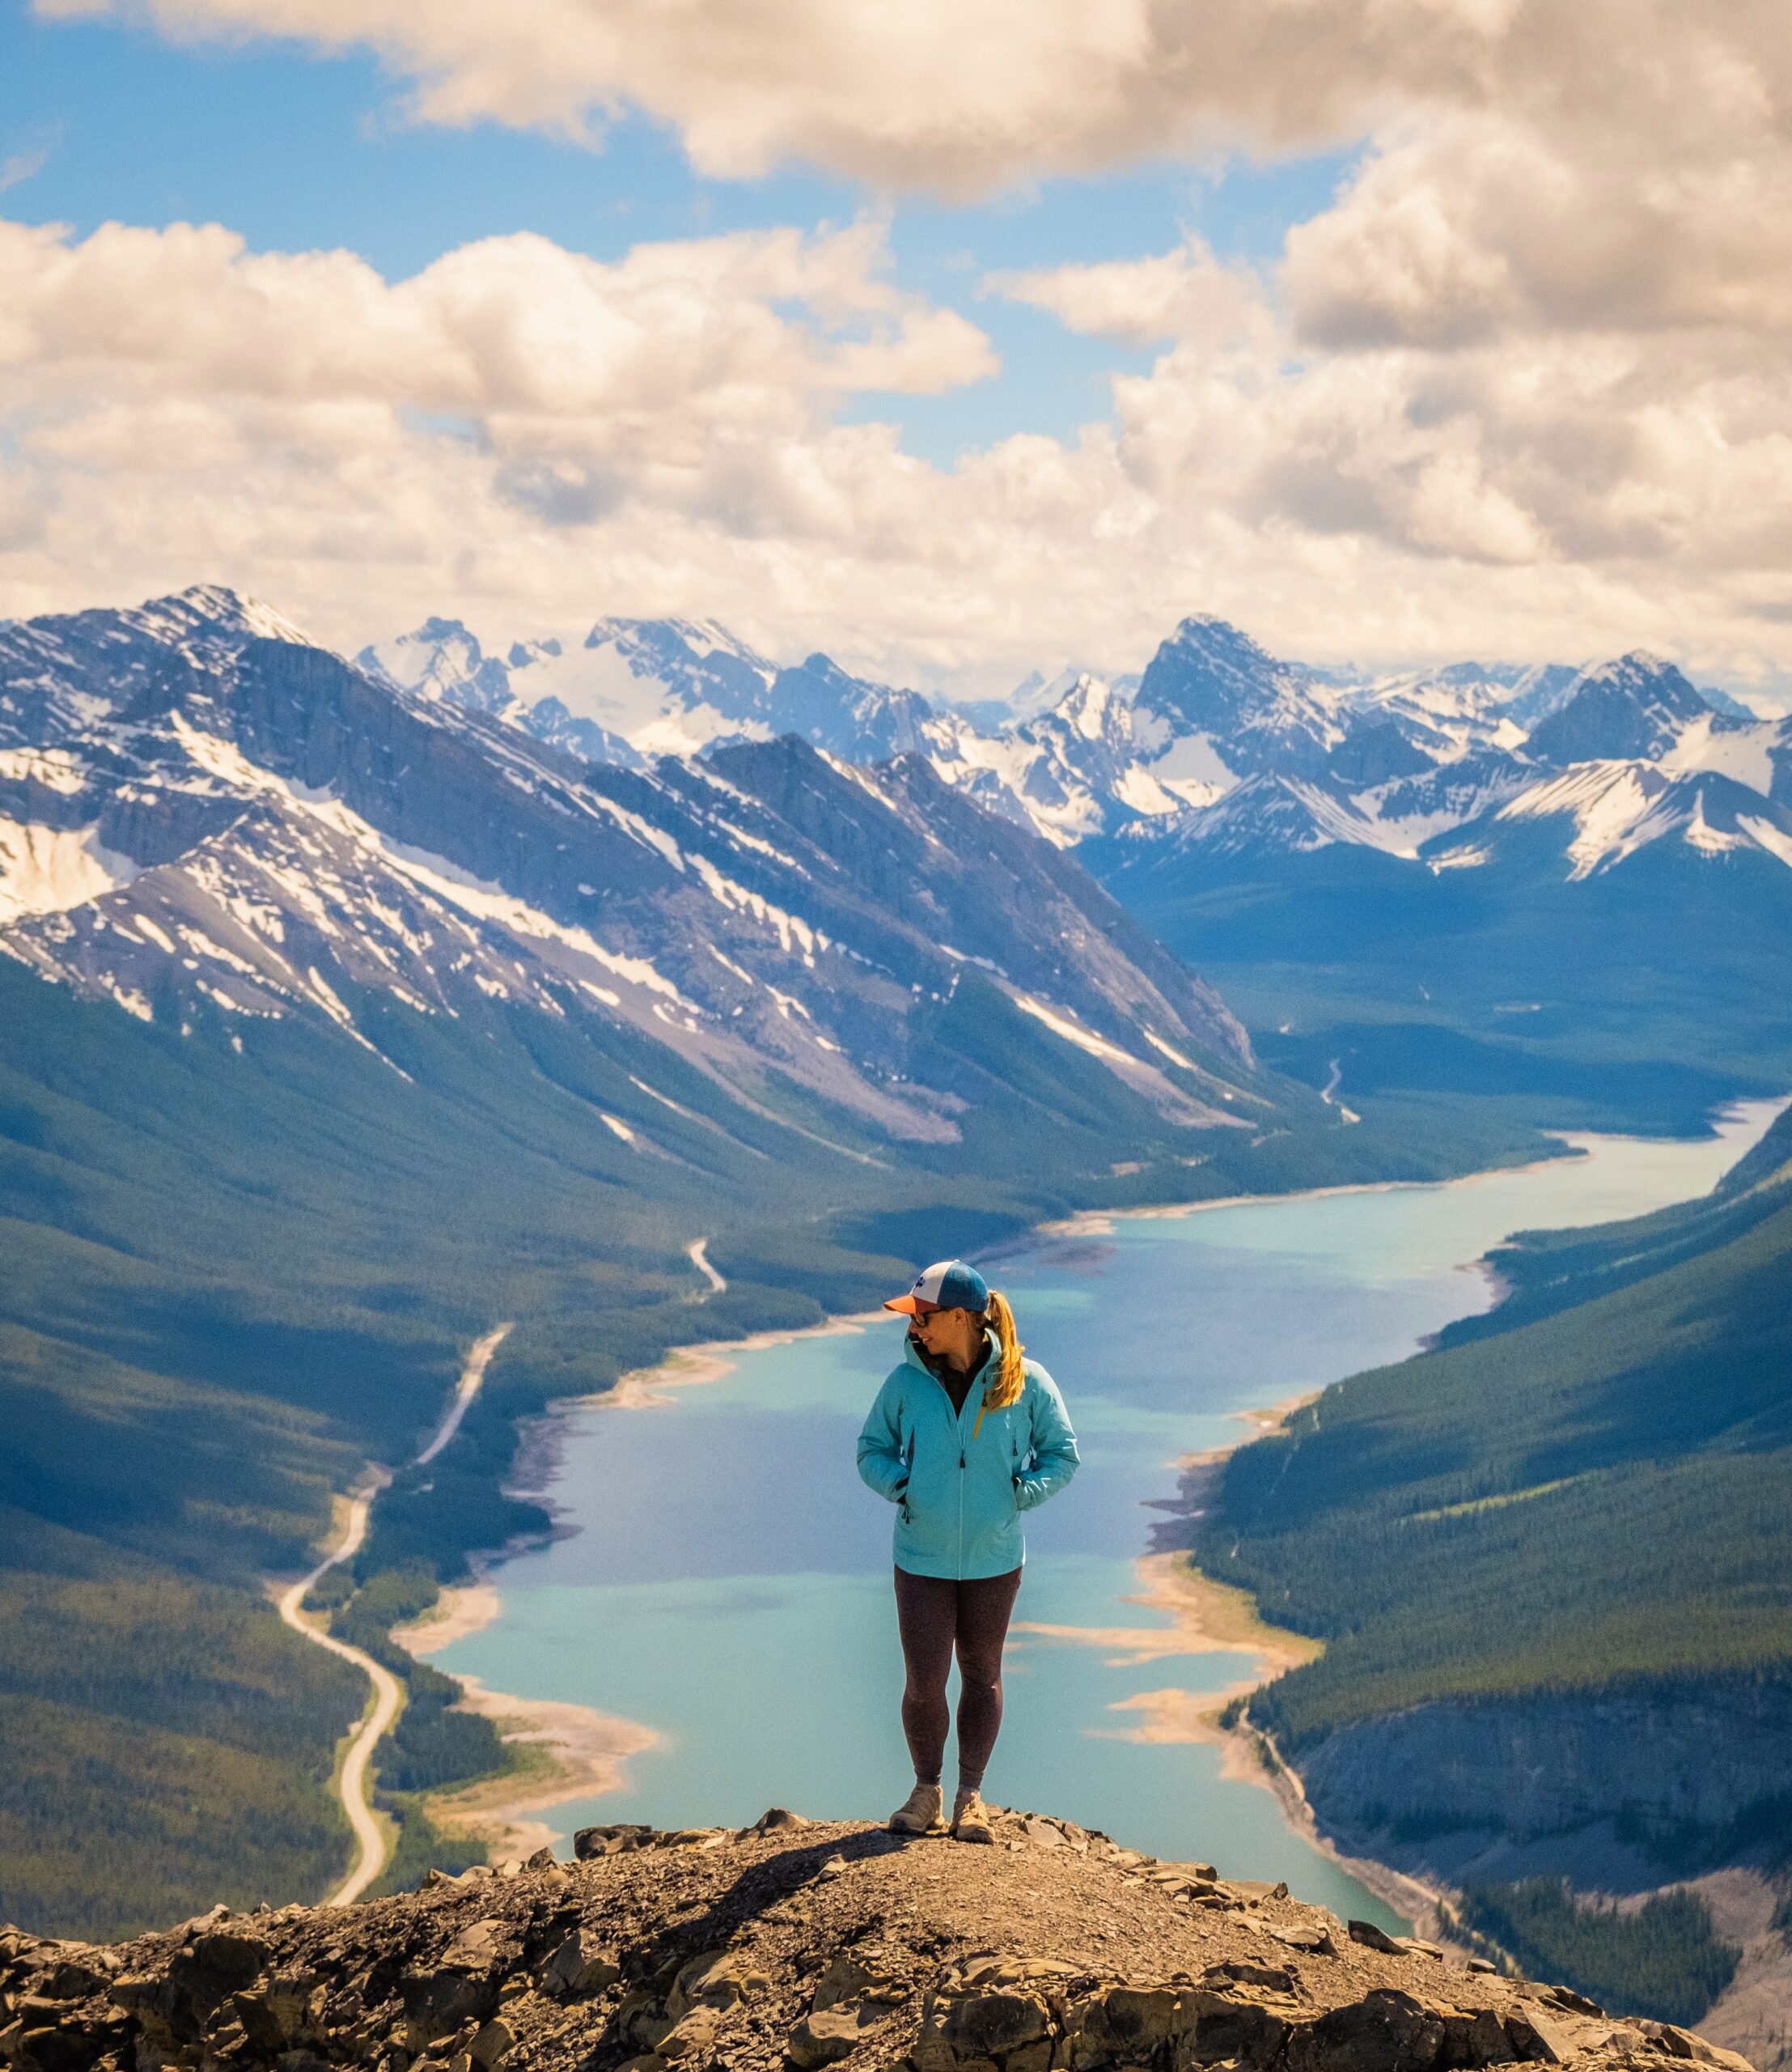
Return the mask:
[[[39,21],[25,0],[4,0],[0,166],[15,168],[15,184],[0,213],[79,234],[104,222],[220,222],[257,251],[346,247],[387,280],[514,230],[615,259],[642,240],[889,213],[895,282],[988,332],[1003,371],[936,398],[868,394],[849,414],[895,419],[907,452],[951,464],[1015,431],[1071,437],[1106,414],[1108,379],[1152,356],[980,294],[986,274],[1146,257],[1187,230],[1224,259],[1270,265],[1289,226],[1324,209],[1349,170],[1338,153],[1158,162],[949,207],[810,168],[702,178],[677,137],[638,114],[588,149],[495,122],[423,126],[400,102],[367,54],[182,46],[114,21]]]

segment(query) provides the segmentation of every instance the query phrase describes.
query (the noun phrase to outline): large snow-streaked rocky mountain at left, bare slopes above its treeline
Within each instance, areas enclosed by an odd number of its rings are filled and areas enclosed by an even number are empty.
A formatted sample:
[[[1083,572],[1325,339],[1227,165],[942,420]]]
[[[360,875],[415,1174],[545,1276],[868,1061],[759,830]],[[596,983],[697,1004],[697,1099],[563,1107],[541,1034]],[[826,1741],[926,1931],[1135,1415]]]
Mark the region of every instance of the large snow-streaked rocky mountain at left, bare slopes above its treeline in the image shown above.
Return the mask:
[[[918,1009],[976,980],[1166,1123],[1272,1106],[1218,997],[926,756],[866,771],[754,719],[702,760],[592,762],[489,711],[487,665],[452,698],[433,667],[402,688],[215,591],[0,632],[0,951],[238,1053],[298,1017],[396,1071],[394,1009],[518,1003],[742,1106],[941,1144],[965,1090],[918,1069]],[[706,667],[735,715],[839,688]]]

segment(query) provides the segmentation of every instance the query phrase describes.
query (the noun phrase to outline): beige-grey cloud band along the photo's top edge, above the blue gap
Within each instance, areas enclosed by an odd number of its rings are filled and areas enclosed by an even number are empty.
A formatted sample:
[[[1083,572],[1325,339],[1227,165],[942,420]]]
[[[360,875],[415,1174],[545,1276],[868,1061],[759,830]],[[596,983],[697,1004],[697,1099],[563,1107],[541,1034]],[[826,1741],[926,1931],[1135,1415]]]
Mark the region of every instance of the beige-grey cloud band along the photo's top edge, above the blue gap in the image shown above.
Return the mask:
[[[622,104],[700,168],[808,157],[974,191],[1200,143],[1349,141],[1411,106],[1678,153],[1784,108],[1777,0],[35,0],[176,37],[373,48],[425,120],[582,131]]]

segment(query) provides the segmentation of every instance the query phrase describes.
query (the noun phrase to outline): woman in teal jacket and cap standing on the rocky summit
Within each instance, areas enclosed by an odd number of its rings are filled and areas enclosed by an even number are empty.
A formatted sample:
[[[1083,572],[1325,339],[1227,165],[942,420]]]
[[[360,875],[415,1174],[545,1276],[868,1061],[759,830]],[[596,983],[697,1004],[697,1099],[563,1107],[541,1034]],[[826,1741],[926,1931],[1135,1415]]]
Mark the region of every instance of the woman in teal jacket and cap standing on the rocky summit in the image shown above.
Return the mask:
[[[907,1295],[903,1363],[872,1403],[858,1471],[897,1506],[895,1589],[907,1685],[903,1732],[916,1788],[893,1834],[938,1834],[947,1672],[959,1658],[959,1788],[951,1832],[994,1842],[984,1765],[1003,1724],[1003,1641],[1021,1562],[1021,1513],[1077,1471],[1057,1382],[1021,1357],[1015,1316],[976,1266],[941,1260]]]

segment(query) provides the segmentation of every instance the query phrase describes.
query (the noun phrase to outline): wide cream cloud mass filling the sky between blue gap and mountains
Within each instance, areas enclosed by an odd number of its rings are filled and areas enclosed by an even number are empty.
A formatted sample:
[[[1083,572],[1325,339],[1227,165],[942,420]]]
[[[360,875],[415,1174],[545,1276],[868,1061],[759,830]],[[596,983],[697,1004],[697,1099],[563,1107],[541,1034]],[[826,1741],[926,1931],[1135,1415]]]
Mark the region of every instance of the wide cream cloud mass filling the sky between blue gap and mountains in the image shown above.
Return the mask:
[[[350,646],[441,609],[503,642],[713,613],[986,690],[1137,665],[1187,609],[1334,659],[1792,659],[1792,406],[1734,342],[1328,350],[1193,240],[1003,292],[1164,348],[1081,437],[947,470],[843,421],[992,367],[876,224],[609,265],[512,236],[402,282],[218,226],[0,224],[0,611],[218,578]]]

